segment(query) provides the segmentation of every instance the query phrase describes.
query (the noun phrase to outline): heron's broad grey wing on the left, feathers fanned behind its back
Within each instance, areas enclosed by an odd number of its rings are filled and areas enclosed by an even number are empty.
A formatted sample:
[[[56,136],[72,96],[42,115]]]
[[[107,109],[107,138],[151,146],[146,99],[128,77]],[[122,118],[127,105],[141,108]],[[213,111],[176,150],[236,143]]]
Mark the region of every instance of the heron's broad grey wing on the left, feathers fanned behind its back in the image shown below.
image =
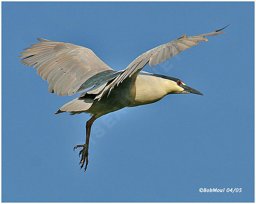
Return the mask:
[[[20,53],[20,62],[34,66],[44,80],[49,83],[50,93],[58,96],[73,95],[92,76],[113,70],[102,62],[92,50],[65,42],[54,42],[37,38],[42,43],[31,45]]]

